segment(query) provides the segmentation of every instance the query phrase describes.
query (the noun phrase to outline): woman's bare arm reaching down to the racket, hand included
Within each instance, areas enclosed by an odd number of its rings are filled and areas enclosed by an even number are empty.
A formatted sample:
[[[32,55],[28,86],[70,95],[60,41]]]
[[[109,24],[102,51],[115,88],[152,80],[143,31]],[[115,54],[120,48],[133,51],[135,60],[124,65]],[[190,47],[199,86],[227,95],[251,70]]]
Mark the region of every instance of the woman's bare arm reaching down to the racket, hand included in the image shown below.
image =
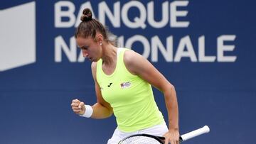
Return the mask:
[[[178,102],[174,86],[142,55],[132,50],[124,53],[124,64],[132,74],[137,74],[164,94],[169,116],[169,133],[164,135],[166,141],[178,143]]]

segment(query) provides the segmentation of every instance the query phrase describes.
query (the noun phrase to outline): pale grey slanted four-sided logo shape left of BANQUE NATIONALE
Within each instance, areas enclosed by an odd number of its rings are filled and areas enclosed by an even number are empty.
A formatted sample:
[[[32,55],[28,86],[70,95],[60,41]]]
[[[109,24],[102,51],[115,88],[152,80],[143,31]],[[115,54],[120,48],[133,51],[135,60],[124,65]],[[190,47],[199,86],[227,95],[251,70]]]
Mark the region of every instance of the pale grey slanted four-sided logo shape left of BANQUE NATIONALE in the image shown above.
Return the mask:
[[[36,2],[0,11],[0,72],[36,62]]]

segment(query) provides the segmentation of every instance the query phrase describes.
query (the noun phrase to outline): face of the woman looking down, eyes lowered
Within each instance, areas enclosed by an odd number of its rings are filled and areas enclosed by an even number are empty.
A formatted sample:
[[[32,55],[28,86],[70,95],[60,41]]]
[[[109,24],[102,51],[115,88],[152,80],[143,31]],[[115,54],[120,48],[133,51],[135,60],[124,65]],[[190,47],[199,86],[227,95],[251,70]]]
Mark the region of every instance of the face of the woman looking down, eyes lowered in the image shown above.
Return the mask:
[[[100,60],[102,48],[99,42],[96,42],[93,38],[82,38],[81,36],[78,36],[76,38],[76,43],[82,50],[83,57],[88,58],[92,62]]]

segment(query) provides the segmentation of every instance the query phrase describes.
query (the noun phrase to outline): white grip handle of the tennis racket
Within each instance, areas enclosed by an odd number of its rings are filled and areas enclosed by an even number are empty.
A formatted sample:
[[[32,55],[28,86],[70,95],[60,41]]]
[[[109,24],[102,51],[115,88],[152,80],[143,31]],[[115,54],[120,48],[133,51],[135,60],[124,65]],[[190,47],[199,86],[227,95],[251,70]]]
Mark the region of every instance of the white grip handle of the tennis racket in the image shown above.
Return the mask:
[[[191,139],[198,135],[202,135],[203,133],[209,133],[209,131],[210,131],[210,128],[208,126],[203,126],[203,128],[198,128],[195,131],[191,131],[189,133],[185,133],[185,134],[181,135],[181,141]]]

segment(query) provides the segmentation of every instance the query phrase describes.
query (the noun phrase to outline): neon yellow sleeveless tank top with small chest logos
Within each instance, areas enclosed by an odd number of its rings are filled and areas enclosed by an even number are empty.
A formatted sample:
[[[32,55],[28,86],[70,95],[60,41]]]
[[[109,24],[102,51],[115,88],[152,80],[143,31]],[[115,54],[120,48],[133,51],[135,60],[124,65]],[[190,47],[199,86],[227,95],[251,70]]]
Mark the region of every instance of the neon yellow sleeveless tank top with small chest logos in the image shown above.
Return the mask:
[[[96,79],[103,99],[113,108],[119,130],[132,132],[163,123],[164,118],[156,106],[151,85],[125,67],[125,50],[128,49],[118,48],[117,65],[110,75],[103,72],[99,60]]]

